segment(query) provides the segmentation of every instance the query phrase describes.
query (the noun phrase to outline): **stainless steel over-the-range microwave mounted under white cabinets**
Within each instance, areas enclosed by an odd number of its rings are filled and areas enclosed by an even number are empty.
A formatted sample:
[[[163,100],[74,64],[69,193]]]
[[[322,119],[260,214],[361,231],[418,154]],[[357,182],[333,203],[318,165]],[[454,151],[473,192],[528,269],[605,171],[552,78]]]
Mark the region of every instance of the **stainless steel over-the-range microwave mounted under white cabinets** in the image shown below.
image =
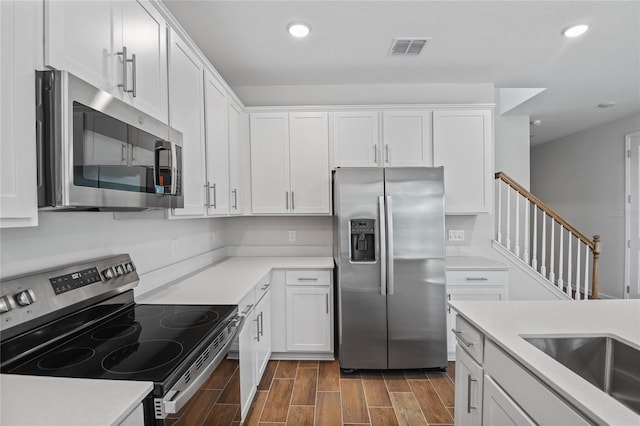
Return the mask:
[[[42,210],[180,208],[182,134],[66,71],[36,72]]]

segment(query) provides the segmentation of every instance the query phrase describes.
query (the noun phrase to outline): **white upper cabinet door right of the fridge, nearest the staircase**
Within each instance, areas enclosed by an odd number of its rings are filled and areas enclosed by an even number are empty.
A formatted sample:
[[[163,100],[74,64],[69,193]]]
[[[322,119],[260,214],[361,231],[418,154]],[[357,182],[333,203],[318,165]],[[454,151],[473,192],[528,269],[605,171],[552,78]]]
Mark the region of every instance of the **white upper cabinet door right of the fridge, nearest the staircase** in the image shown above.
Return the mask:
[[[490,211],[491,138],[490,111],[434,111],[433,165],[444,166],[448,214]]]

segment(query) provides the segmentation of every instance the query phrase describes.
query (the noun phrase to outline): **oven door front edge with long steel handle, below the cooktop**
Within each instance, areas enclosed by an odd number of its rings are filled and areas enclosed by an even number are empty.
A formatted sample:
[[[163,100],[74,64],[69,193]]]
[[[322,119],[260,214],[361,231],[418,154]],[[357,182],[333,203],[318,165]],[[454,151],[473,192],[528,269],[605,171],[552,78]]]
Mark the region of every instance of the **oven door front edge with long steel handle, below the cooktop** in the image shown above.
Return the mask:
[[[154,401],[155,417],[164,419],[167,414],[175,414],[186,405],[205,381],[211,376],[220,362],[227,356],[231,345],[244,326],[245,316],[237,315],[216,337],[202,355],[180,377],[175,385],[162,398]]]

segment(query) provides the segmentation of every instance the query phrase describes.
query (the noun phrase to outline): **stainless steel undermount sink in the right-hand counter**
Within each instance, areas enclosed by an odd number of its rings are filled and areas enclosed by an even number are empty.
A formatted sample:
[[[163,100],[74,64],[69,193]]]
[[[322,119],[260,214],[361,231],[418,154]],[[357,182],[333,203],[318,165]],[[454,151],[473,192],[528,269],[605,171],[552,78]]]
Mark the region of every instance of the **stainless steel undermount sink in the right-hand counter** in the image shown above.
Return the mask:
[[[640,350],[608,336],[523,338],[640,414]]]

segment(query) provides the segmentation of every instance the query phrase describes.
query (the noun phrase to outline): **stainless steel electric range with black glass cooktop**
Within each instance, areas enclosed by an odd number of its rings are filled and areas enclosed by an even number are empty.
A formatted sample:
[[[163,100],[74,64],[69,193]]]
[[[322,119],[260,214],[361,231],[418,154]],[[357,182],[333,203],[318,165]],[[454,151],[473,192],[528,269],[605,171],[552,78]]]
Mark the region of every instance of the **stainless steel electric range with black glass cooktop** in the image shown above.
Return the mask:
[[[129,255],[0,283],[0,372],[153,382],[145,425],[162,425],[240,331],[236,305],[136,304]],[[105,401],[105,404],[108,404]]]

